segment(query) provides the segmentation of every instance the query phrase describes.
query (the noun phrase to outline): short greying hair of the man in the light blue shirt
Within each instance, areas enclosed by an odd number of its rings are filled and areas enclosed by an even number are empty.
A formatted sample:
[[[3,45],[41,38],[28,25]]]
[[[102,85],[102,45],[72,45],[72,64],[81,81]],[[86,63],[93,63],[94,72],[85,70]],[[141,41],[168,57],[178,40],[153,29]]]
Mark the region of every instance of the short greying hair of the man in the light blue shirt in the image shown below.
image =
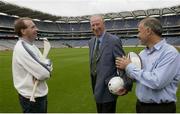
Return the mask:
[[[150,28],[156,35],[162,36],[163,27],[158,19],[148,17],[140,21],[140,23],[143,23],[144,27]]]

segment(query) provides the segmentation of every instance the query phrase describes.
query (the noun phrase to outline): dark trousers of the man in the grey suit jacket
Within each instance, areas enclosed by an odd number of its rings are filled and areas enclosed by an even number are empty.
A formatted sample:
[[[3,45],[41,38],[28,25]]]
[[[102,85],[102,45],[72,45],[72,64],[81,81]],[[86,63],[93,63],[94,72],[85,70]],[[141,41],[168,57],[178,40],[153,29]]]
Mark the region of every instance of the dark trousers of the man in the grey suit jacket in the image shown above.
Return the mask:
[[[115,113],[116,101],[107,103],[96,103],[98,113]]]

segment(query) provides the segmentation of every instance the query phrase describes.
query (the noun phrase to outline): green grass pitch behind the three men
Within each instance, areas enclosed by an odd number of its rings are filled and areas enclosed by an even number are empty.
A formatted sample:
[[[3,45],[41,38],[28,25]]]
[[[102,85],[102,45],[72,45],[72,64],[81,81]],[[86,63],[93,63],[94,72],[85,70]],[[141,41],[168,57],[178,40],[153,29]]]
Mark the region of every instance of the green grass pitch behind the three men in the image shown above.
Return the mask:
[[[124,48],[139,52],[142,48]],[[0,112],[21,112],[11,71],[12,51],[0,52]],[[53,61],[49,86],[48,112],[96,112],[89,76],[88,49],[52,49]],[[118,98],[117,112],[135,112],[136,96],[133,91]],[[180,107],[180,89],[177,107]],[[177,108],[177,112],[180,109]]]

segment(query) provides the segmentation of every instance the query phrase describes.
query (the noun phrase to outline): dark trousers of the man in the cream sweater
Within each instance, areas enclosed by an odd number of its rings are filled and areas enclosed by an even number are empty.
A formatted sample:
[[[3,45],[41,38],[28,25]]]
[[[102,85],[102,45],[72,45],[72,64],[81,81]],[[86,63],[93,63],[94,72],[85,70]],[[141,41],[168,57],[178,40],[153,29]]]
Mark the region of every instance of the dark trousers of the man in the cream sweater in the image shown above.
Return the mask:
[[[47,113],[47,96],[35,98],[36,102],[19,95],[23,113]]]

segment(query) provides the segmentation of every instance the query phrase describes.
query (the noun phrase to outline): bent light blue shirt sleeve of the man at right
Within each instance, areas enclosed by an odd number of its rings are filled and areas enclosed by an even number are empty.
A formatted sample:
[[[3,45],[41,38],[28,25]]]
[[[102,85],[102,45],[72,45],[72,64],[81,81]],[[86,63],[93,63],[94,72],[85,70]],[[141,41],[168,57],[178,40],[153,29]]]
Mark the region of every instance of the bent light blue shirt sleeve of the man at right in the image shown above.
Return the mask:
[[[179,56],[177,53],[167,53],[161,56],[157,65],[151,71],[137,70],[133,64],[126,67],[130,77],[151,89],[161,89],[170,84],[179,72]]]

